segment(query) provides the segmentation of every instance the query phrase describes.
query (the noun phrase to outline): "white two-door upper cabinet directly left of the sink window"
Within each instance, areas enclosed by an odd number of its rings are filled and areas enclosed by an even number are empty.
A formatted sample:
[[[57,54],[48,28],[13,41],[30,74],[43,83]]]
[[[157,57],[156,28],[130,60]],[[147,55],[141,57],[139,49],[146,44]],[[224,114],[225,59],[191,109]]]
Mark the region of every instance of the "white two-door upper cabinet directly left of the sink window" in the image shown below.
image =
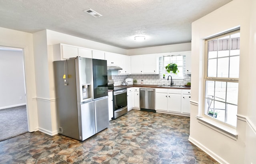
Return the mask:
[[[132,74],[159,74],[159,58],[156,54],[131,56]]]

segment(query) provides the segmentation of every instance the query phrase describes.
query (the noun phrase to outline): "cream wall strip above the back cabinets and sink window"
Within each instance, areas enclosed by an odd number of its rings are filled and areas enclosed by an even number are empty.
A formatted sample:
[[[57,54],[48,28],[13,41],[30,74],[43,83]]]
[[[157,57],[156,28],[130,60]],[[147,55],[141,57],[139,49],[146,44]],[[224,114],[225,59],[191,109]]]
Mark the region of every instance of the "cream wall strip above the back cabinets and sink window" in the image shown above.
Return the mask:
[[[165,52],[180,52],[190,51],[191,43],[172,44],[166,46],[155,46],[147,48],[136,48],[127,50],[127,55],[143,55],[143,54],[156,54]]]

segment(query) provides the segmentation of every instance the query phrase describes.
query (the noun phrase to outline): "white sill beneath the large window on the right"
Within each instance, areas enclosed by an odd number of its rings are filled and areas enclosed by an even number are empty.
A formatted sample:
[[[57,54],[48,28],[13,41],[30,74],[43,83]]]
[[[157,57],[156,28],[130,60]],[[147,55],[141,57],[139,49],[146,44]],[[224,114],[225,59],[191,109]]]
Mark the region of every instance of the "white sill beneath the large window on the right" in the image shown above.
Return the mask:
[[[200,124],[203,124],[208,128],[211,128],[212,130],[215,130],[216,132],[219,132],[220,134],[223,134],[231,138],[232,140],[236,141],[238,139],[238,134],[236,133],[236,129],[231,128],[229,126],[225,126],[224,124],[218,123],[209,118],[204,118],[199,116],[196,116],[196,118]]]

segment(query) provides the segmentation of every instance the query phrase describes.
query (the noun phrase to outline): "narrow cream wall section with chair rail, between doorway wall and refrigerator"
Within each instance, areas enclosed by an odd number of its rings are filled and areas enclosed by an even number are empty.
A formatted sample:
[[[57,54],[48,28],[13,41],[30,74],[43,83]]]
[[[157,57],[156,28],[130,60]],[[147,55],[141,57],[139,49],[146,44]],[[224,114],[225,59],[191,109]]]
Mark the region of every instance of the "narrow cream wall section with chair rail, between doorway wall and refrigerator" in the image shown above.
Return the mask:
[[[46,30],[33,34],[36,75],[36,100],[38,106],[38,129],[49,135],[58,134],[52,60],[49,60]],[[52,55],[52,54],[50,54]],[[51,59],[51,56],[50,56]],[[52,93],[53,92],[53,93]]]

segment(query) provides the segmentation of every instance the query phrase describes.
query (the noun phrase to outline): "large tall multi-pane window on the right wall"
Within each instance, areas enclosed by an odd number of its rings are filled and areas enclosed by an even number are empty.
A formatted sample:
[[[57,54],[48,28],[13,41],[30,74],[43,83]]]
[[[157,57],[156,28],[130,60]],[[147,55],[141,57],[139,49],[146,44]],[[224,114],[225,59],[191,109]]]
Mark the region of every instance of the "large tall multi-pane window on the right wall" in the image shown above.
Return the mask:
[[[204,116],[236,127],[240,30],[205,40]]]

